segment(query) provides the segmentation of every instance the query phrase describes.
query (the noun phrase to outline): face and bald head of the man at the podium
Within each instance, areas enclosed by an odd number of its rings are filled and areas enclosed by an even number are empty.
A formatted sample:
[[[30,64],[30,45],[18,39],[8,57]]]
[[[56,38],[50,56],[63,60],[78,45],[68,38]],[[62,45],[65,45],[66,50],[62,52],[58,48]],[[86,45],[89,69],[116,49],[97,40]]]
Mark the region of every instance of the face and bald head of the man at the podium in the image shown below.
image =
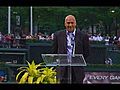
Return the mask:
[[[65,18],[65,27],[69,32],[73,32],[76,27],[76,20],[74,16],[67,16]]]

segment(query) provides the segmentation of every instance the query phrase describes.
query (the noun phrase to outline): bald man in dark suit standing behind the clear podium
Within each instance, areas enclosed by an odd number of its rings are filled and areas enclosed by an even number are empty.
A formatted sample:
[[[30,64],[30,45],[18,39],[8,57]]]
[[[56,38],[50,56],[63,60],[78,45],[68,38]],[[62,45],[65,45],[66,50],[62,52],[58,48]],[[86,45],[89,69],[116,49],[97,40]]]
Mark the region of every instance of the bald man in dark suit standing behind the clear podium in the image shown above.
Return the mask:
[[[89,55],[89,38],[88,35],[76,28],[76,19],[73,15],[68,15],[65,18],[65,30],[60,30],[54,33],[52,51],[55,54],[83,54],[86,59]],[[73,35],[71,39],[71,36]],[[60,67],[61,83],[67,83],[67,67]],[[84,67],[71,67],[72,83],[83,83],[85,77]]]

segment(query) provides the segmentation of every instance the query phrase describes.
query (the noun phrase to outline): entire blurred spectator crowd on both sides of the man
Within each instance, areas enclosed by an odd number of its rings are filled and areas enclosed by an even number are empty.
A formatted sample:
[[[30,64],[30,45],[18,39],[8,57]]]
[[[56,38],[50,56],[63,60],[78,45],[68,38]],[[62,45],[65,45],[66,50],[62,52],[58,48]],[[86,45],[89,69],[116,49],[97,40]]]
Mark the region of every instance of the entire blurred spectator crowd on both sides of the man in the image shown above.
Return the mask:
[[[3,48],[11,48],[11,47],[22,47],[27,40],[53,40],[53,35],[46,35],[41,32],[35,33],[34,35],[31,34],[2,34],[0,32],[0,47]],[[106,36],[101,35],[101,33],[89,35],[90,41],[104,41],[106,45],[118,45],[120,46],[120,37],[118,36]]]

